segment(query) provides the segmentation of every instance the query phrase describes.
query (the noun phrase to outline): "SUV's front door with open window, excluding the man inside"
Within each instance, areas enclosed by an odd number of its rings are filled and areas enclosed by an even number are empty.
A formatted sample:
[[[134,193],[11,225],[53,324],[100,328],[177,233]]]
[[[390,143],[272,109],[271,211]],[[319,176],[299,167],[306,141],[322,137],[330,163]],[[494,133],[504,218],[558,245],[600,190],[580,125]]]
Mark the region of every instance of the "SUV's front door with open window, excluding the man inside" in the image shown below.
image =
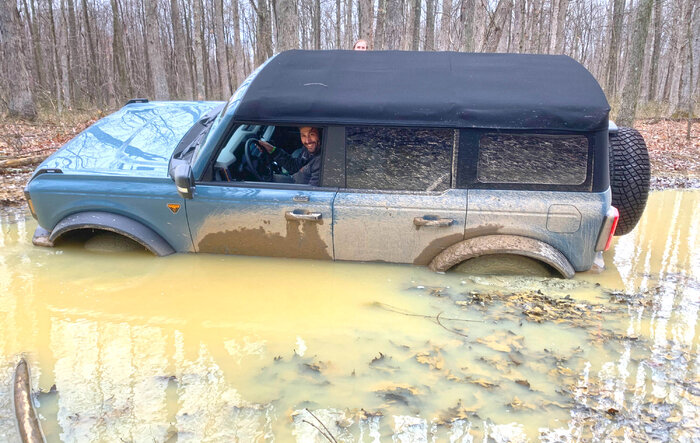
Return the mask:
[[[253,138],[270,140],[280,148],[296,148],[293,142],[299,142],[298,131],[287,129],[245,125],[231,136],[214,165],[215,169],[234,171],[232,180],[214,175],[211,181],[197,183],[193,198],[186,201],[196,252],[334,258],[331,226],[336,188],[248,181],[250,175],[235,174],[245,170],[257,154],[250,143]],[[254,152],[246,153],[245,149]]]

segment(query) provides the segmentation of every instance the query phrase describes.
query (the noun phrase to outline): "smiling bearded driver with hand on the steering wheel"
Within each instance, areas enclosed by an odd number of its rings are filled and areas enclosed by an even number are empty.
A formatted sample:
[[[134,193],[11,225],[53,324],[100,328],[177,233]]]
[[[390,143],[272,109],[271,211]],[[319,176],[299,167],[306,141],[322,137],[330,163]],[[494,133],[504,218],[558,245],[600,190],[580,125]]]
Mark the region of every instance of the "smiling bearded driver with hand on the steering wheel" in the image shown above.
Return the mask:
[[[304,145],[298,157],[287,154],[284,149],[277,149],[264,140],[258,140],[260,152],[265,149],[272,159],[289,171],[294,183],[318,186],[321,179],[321,130],[311,126],[299,128],[301,144]]]

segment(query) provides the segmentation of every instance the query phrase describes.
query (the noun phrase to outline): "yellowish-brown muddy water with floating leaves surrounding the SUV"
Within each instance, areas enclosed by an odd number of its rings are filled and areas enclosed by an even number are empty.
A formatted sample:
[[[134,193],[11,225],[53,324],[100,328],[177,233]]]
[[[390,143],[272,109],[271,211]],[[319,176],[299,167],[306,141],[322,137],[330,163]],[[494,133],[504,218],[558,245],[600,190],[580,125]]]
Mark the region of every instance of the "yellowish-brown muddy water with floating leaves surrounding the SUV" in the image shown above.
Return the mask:
[[[24,356],[48,441],[697,441],[700,192],[602,273],[154,258],[0,221],[0,441]]]

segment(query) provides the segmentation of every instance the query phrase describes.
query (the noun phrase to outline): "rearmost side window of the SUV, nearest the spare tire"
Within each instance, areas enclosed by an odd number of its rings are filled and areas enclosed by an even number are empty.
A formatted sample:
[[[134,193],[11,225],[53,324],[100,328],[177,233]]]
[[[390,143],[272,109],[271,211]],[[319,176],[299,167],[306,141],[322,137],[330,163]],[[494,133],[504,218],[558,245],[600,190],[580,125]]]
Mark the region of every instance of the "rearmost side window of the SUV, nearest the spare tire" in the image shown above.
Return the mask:
[[[482,134],[478,183],[581,185],[588,172],[583,135]]]

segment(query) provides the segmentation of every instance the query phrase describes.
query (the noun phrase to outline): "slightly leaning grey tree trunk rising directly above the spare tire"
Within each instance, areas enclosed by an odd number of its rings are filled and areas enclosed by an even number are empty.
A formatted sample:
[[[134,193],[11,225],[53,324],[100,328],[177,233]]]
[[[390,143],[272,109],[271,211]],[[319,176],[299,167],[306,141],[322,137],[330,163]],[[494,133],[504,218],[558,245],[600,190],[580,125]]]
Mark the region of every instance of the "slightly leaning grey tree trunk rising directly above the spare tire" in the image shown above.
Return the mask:
[[[637,99],[639,98],[639,80],[642,76],[642,63],[644,62],[644,47],[646,46],[649,31],[649,18],[651,16],[652,0],[640,0],[637,7],[637,19],[634,23],[634,34],[630,48],[630,61],[625,87],[622,90],[622,103],[617,114],[617,123],[620,126],[632,126],[637,113]]]

